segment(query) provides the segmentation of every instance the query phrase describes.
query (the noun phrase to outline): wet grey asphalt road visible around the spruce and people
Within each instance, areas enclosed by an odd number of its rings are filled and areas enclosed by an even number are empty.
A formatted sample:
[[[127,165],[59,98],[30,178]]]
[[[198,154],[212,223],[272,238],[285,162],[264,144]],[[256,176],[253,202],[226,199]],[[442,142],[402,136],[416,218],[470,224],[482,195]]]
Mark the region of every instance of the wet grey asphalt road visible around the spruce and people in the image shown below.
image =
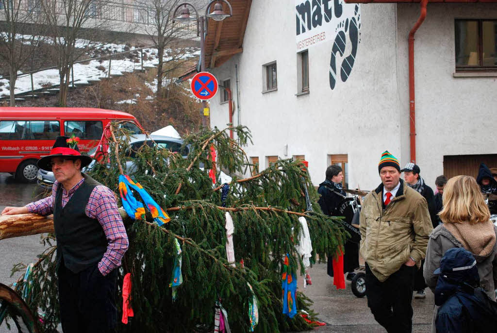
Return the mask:
[[[0,212],[5,206],[23,206],[40,198],[41,190],[36,184],[17,182],[7,173],[0,173]],[[19,274],[10,277],[10,270],[15,263],[28,264],[36,261],[36,255],[44,250],[40,244],[40,235],[12,238],[0,241],[0,283],[10,285]],[[314,310],[327,325],[317,328],[316,333],[383,333],[369,308],[366,298],[356,298],[350,291],[350,282],[346,289],[336,290],[332,279],[326,273],[326,264],[317,264],[311,268],[313,284],[303,288],[302,278],[298,277],[299,290],[314,301]],[[413,332],[428,333],[431,327],[433,294],[426,289],[426,299],[413,299]],[[0,333],[8,331],[5,324],[0,326]]]

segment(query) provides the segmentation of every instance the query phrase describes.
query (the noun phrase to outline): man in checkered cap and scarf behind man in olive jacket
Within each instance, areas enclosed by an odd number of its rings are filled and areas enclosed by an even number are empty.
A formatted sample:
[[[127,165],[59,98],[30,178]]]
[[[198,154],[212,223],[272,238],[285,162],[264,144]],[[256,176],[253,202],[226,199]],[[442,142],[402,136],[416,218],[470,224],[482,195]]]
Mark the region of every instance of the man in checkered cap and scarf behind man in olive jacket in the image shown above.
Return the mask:
[[[433,228],[438,225],[438,220],[436,219],[436,208],[435,208],[435,196],[433,195],[433,190],[429,187],[419,175],[421,171],[417,165],[414,163],[408,163],[406,167],[404,167],[401,171],[404,172],[404,179],[406,180],[406,184],[417,191],[422,195],[424,199],[426,199],[426,203],[428,204],[428,212],[430,213],[431,224]],[[421,261],[421,267],[416,272],[416,276],[414,278],[414,290],[416,293],[414,294],[414,298],[425,298],[426,294],[424,293],[424,289],[426,288],[426,283],[424,282],[423,277],[423,265],[424,259]]]

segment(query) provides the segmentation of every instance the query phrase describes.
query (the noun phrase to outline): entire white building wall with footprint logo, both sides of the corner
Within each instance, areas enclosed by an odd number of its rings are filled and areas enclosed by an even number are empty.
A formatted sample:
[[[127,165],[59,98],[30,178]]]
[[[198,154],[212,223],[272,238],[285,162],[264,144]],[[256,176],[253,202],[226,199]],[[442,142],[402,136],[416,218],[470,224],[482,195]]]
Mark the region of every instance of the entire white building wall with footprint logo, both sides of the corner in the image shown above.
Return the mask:
[[[495,78],[452,77],[453,20],[467,16],[464,10],[470,6],[475,15],[497,17],[489,12],[489,4],[429,4],[428,18],[416,34],[417,161],[430,185],[443,172],[443,155],[497,153],[495,140],[481,144],[480,126],[475,128],[483,119],[495,123]],[[360,44],[348,80],[338,79],[331,89],[332,42],[311,46],[310,93],[296,96],[295,2],[252,2],[244,52],[212,72],[219,81],[231,79],[237,102],[238,65],[240,123],[252,131],[254,143],[246,151],[259,157],[261,168],[266,167],[266,156],[305,155],[317,185],[325,178],[328,155],[348,154],[349,187],[370,190],[380,182],[377,165],[384,150],[402,165],[409,162],[407,36],[419,5],[363,4],[360,13]],[[349,54],[350,43],[345,56]],[[278,90],[262,93],[262,65],[272,61],[277,62]],[[340,57],[336,64],[339,69]],[[211,100],[211,124],[223,127],[228,123],[228,104],[219,101],[218,95]],[[468,121],[472,115],[473,121]],[[440,130],[437,124],[447,126]],[[486,134],[491,138],[490,132]]]

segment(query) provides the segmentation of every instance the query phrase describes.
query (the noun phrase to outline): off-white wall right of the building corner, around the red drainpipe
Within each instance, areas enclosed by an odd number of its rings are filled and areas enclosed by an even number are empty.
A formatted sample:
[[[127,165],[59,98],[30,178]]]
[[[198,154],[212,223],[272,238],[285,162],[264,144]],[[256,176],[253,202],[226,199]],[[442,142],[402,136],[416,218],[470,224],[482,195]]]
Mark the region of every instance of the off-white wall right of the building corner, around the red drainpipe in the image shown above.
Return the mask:
[[[402,100],[402,162],[409,162],[409,76],[407,36],[418,4],[398,5],[399,91]],[[497,73],[454,77],[456,18],[497,19],[496,3],[430,3],[414,38],[416,162],[434,186],[446,155],[497,154]]]

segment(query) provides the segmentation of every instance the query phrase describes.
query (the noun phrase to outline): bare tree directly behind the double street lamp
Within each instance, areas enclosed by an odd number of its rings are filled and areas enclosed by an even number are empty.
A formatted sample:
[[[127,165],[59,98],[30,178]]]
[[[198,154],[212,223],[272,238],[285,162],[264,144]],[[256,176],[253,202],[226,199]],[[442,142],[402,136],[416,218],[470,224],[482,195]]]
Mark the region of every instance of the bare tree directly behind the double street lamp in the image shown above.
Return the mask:
[[[157,48],[159,64],[157,66],[157,99],[162,98],[164,80],[184,62],[187,53],[193,51],[188,40],[196,38],[195,26],[185,26],[173,22],[173,11],[180,3],[179,0],[138,0],[143,15],[148,15],[150,24],[144,26],[145,32],[150,36]],[[198,2],[198,3],[197,3]],[[193,1],[201,6],[204,0]],[[192,29],[193,27],[193,29]],[[169,66],[166,66],[169,63]]]

